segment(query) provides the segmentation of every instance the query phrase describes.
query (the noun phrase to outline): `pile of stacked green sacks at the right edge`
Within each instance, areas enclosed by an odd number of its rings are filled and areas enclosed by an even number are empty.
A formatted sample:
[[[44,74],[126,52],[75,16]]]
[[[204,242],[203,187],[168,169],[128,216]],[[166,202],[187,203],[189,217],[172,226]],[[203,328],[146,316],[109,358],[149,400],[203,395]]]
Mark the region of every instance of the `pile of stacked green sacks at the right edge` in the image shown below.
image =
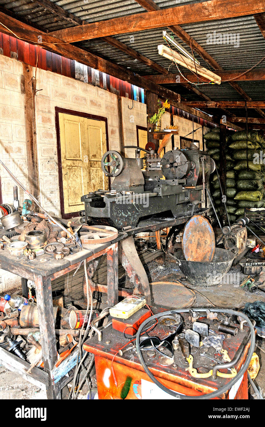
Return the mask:
[[[207,152],[215,160],[219,171],[219,129],[208,132],[206,140]],[[215,136],[214,136],[215,135]],[[263,150],[265,140],[257,131],[233,132],[227,137],[227,212],[230,221],[236,221],[238,216],[244,215],[244,208],[265,207],[265,164],[263,164]],[[248,160],[247,160],[248,156]],[[265,163],[265,159],[264,159]],[[212,176],[212,175],[211,175]],[[221,192],[217,174],[211,181],[211,194],[216,209],[221,205]]]

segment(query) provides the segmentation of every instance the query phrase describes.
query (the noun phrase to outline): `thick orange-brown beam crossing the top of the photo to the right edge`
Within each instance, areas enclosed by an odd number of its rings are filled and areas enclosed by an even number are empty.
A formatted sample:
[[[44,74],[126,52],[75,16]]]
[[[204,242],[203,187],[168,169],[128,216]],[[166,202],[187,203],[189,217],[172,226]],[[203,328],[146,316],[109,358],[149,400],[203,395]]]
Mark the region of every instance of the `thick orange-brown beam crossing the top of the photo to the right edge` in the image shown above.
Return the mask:
[[[125,34],[147,29],[254,15],[265,12],[263,0],[209,0],[202,3],[189,3],[153,12],[102,20],[73,28],[65,28],[51,34],[69,43]]]

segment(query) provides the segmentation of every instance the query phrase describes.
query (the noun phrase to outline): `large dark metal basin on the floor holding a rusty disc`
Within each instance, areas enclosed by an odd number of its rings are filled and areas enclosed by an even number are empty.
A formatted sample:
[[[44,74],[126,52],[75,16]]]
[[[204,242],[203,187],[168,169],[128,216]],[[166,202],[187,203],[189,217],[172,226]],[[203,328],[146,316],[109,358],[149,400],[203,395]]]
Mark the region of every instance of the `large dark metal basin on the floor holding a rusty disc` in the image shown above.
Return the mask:
[[[224,275],[230,270],[237,253],[238,248],[230,250],[215,248],[213,260],[208,262],[186,261],[182,250],[175,252],[174,257],[190,284],[213,286],[219,284]]]

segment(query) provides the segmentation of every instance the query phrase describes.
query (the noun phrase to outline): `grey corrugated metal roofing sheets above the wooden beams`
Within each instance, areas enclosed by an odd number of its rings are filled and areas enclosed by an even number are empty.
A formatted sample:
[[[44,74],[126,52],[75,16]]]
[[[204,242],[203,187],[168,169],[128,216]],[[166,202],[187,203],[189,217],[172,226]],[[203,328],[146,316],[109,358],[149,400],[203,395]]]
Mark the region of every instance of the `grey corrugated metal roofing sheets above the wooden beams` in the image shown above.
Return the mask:
[[[203,0],[197,1],[200,3]],[[62,7],[67,12],[70,12],[79,19],[88,22],[96,22],[116,18],[118,16],[127,16],[135,13],[146,12],[134,0],[60,0],[52,1],[57,6]],[[187,3],[194,3],[194,0],[155,0],[160,8],[169,8]],[[55,31],[61,28],[74,26],[74,23],[61,18],[39,6],[38,3],[31,0],[0,0],[0,5],[17,14],[17,17],[26,18],[32,24],[41,26],[49,31]],[[265,40],[256,24],[253,16],[243,16],[233,19],[215,20],[202,23],[194,23],[183,25],[182,28],[194,38],[220,65],[224,70],[230,69],[248,69],[265,55]],[[162,67],[168,68],[170,61],[163,58],[157,53],[157,45],[163,44],[162,30],[153,29],[137,33],[114,35],[114,37],[122,43],[128,45],[132,49],[152,59]],[[235,42],[239,41],[239,46],[233,44],[209,44],[207,38],[209,34],[214,35],[214,32],[221,34],[235,34]],[[190,51],[190,48],[179,38],[177,38],[183,46]],[[85,47],[99,56],[105,57],[110,61],[120,64],[125,68],[129,68],[135,73],[141,75],[157,74],[157,72],[146,66],[139,60],[131,58],[127,54],[112,47],[110,44],[101,40],[89,40],[78,43],[78,46]],[[201,65],[209,67],[206,62],[195,53],[196,58],[201,62]],[[265,62],[258,67],[264,67]],[[170,67],[171,72],[178,73],[175,65]],[[253,99],[265,99],[265,82],[239,82],[242,89]],[[168,88],[175,89],[175,85]],[[202,85],[198,89],[214,100],[239,100],[242,97],[227,83],[218,85]],[[179,88],[179,92],[181,92]],[[185,92],[185,91],[184,91]],[[186,91],[186,95],[190,97],[190,92]],[[194,94],[193,99],[198,99]]]

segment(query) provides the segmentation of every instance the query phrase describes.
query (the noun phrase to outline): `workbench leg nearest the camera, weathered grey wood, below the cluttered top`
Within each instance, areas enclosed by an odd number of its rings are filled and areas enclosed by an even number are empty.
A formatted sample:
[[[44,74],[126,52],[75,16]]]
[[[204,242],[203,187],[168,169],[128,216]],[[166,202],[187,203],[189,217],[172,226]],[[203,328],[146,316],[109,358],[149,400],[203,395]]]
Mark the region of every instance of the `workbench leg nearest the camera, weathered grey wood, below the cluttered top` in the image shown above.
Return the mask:
[[[51,380],[51,371],[54,364],[57,362],[51,278],[50,276],[42,277],[41,275],[34,275],[34,281],[42,337],[41,347],[44,370],[49,375],[49,386],[46,388],[47,399],[61,399],[60,382],[52,384]]]

